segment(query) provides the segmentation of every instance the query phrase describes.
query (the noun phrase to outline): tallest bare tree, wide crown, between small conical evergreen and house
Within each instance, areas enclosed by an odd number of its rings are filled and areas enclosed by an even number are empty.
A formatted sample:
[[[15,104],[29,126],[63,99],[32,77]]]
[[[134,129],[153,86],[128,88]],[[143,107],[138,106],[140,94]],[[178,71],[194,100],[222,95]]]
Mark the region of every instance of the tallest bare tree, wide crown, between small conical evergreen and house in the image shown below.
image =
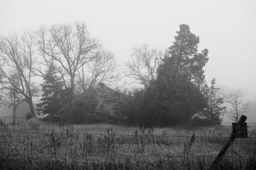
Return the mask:
[[[42,56],[45,60],[53,59],[56,62],[57,69],[65,80],[65,87],[69,89],[70,108],[74,99],[77,71],[84,64],[97,59],[95,50],[99,48],[99,43],[90,38],[86,25],[80,22],[53,25],[48,30],[42,27],[38,36]]]

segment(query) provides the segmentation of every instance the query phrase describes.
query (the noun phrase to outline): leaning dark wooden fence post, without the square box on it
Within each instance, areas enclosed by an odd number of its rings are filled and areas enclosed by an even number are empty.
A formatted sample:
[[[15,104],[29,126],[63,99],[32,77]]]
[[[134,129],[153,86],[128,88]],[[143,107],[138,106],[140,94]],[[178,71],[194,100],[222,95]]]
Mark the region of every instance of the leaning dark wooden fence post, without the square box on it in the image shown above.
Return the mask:
[[[237,122],[238,124],[243,124],[245,123],[247,117],[242,115],[239,118],[239,121]],[[236,139],[236,134],[234,133],[234,129],[232,129],[232,132],[228,138],[228,140],[226,141],[225,145],[223,146],[223,148],[221,149],[220,153],[217,155],[216,159],[212,162],[212,168],[216,167],[217,164],[220,162],[221,158],[223,157],[223,155],[225,155],[227,149],[229,148],[229,146],[233,143],[234,139]]]

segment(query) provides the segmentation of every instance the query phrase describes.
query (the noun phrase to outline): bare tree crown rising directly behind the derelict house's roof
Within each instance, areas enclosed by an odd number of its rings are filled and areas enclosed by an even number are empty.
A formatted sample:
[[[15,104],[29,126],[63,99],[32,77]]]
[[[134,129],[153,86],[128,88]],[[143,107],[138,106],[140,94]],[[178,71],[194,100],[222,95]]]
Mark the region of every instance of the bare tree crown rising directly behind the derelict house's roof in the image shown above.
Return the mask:
[[[111,83],[116,81],[117,62],[113,53],[101,50],[98,52],[97,60],[87,63],[79,71],[78,84],[85,91],[96,83]],[[87,71],[88,76],[86,76]]]

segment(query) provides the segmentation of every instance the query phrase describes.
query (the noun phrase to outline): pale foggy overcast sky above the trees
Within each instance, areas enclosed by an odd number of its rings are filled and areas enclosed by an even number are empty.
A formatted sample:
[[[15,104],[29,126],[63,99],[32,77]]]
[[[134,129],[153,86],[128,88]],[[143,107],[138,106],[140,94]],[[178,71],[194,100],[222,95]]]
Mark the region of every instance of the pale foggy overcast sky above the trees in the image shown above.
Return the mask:
[[[91,35],[127,61],[132,46],[148,43],[165,50],[180,24],[208,48],[207,80],[247,90],[256,98],[256,1],[36,1],[0,0],[0,34],[40,25],[84,21]]]

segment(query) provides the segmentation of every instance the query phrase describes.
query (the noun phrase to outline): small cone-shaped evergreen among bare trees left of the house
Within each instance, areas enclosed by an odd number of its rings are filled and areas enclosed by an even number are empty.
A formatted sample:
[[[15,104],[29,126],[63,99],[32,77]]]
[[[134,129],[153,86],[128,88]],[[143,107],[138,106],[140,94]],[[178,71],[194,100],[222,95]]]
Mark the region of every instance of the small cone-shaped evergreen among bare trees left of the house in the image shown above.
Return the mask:
[[[41,84],[42,91],[42,103],[36,104],[38,110],[42,113],[54,114],[60,110],[63,106],[63,98],[65,96],[63,87],[63,81],[57,75],[56,67],[53,61],[49,65],[46,74],[44,75],[44,82]]]

